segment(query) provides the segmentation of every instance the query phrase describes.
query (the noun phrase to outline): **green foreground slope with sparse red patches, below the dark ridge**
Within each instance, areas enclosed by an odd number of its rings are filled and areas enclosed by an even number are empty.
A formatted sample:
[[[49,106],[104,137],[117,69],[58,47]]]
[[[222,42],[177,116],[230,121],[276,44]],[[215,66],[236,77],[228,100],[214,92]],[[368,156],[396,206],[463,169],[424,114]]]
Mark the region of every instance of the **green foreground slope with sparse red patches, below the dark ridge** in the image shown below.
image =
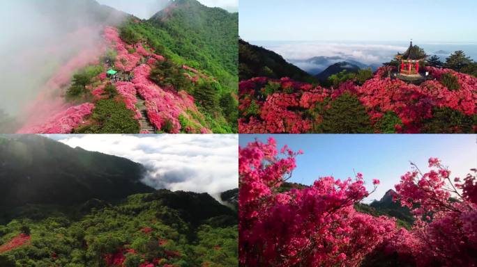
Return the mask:
[[[237,224],[206,193],[27,205],[0,213],[0,266],[238,266]]]

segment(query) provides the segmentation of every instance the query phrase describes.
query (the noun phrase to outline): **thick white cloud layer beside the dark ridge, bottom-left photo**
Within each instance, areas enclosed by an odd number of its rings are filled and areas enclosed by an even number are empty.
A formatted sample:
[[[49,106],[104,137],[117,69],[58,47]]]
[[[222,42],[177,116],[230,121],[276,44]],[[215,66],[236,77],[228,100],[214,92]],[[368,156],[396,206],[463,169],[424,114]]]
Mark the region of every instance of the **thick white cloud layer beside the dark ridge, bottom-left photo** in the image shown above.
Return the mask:
[[[218,193],[239,186],[237,135],[72,135],[55,139],[70,147],[142,163],[148,169],[144,184],[153,188]]]

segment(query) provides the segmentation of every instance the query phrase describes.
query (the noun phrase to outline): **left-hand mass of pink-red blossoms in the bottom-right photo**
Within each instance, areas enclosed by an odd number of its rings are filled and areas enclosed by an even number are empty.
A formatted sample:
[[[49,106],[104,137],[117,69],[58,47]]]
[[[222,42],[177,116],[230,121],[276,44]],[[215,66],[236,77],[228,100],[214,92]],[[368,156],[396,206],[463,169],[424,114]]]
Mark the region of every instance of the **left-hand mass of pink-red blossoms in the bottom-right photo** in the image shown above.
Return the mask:
[[[357,266],[393,236],[395,221],[354,210],[368,196],[361,174],[354,181],[321,177],[310,187],[278,193],[298,154],[287,147],[279,154],[272,138],[239,147],[241,263]]]

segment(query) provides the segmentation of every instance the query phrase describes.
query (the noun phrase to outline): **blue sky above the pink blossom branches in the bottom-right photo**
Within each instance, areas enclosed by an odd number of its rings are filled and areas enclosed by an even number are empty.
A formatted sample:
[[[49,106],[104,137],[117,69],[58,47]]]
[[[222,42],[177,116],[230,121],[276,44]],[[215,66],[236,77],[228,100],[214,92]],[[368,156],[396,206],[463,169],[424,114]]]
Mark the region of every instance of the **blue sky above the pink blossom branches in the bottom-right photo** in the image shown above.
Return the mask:
[[[409,161],[421,170],[428,170],[427,160],[437,157],[452,171],[464,177],[477,167],[477,135],[245,135],[239,145],[245,146],[255,138],[265,141],[273,136],[278,147],[288,145],[304,154],[296,160],[297,168],[291,181],[312,184],[319,177],[332,175],[345,179],[354,171],[363,173],[368,189],[372,179],[381,181],[377,191],[365,202],[380,199],[398,184],[400,176],[411,170]]]

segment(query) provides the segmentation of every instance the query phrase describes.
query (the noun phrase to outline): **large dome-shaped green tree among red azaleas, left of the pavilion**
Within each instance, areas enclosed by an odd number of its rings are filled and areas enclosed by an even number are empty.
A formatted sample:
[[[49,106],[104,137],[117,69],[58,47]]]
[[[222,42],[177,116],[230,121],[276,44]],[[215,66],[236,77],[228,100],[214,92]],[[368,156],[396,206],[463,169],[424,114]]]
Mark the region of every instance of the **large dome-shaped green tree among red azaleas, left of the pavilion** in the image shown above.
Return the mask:
[[[365,106],[349,92],[331,102],[318,127],[323,133],[373,133]]]

